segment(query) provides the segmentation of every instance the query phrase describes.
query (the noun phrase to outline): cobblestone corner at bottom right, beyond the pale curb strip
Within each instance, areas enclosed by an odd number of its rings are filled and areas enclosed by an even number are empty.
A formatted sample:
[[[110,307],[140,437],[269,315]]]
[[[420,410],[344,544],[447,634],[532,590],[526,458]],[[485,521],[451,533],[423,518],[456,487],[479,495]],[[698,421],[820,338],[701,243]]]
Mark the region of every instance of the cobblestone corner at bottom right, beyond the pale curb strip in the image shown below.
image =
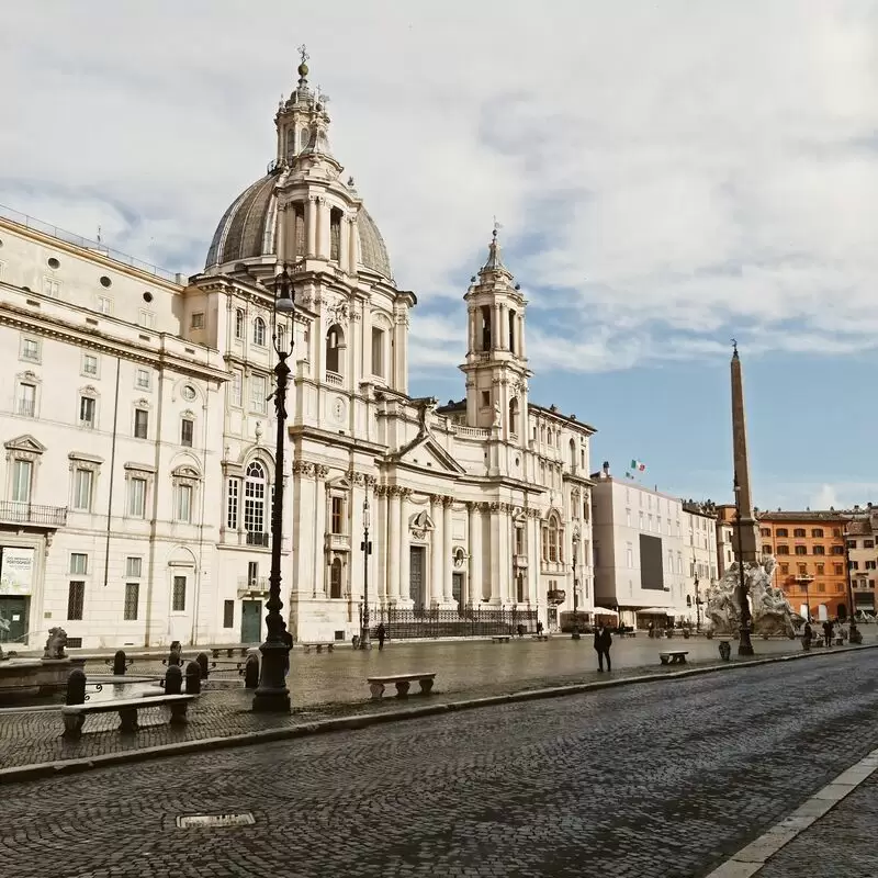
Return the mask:
[[[780,848],[758,878],[874,878],[878,875],[878,773]]]

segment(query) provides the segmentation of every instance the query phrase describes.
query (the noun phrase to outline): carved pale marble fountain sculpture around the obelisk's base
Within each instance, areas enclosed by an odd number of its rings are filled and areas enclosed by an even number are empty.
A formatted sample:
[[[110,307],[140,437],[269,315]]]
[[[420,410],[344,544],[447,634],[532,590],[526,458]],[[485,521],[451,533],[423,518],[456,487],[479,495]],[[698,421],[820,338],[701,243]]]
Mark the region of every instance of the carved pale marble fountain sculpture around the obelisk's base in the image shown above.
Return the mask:
[[[774,558],[744,563],[750,595],[751,634],[754,637],[796,635],[796,614],[780,588],[772,584],[777,562]],[[707,589],[707,617],[713,634],[736,637],[741,627],[741,573],[731,564],[719,582]]]

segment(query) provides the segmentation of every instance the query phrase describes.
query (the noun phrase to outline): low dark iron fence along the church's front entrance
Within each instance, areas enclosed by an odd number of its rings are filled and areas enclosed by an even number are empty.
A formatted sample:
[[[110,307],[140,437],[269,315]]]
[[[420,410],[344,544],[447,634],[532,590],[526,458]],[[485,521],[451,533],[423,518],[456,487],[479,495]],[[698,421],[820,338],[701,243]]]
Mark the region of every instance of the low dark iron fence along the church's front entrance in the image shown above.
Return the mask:
[[[390,640],[423,638],[484,638],[516,634],[519,626],[526,633],[537,630],[537,610],[484,609],[465,607],[460,610],[397,609],[389,607],[373,617],[371,637],[378,637],[379,623],[384,624]]]

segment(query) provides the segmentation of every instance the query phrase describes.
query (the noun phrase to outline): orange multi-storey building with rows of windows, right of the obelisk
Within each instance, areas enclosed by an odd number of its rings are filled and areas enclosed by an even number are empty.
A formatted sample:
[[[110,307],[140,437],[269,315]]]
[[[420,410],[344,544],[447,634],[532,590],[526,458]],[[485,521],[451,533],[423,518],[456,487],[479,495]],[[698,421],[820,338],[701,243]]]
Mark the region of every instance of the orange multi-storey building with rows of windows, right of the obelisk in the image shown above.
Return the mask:
[[[845,528],[849,514],[841,511],[759,511],[759,542],[764,555],[777,559],[775,585],[784,589],[792,609],[813,619],[844,619],[848,610],[845,570]]]

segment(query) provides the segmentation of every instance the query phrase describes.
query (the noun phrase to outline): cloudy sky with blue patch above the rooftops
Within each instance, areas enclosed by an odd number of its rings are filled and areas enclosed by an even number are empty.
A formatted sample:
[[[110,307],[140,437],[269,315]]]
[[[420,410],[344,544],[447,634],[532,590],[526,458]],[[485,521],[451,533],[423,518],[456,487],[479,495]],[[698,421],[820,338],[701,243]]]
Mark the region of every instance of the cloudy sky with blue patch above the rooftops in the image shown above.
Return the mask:
[[[757,503],[878,503],[878,2],[9,3],[0,203],[196,271],[301,43],[419,297],[414,393],[462,395],[496,215],[596,468],[728,500],[734,336]]]

